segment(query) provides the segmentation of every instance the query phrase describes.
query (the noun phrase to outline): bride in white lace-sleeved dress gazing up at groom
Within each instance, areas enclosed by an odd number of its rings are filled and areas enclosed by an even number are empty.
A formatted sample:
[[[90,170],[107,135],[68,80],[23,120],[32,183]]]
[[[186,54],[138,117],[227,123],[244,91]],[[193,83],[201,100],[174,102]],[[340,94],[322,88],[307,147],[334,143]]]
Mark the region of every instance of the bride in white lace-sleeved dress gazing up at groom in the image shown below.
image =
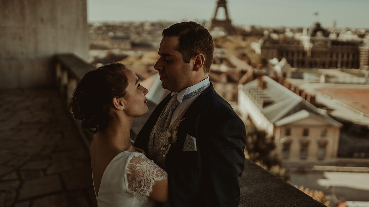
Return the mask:
[[[132,70],[113,63],[86,73],[73,93],[74,118],[96,133],[90,155],[100,207],[168,202],[167,173],[133,147],[130,137],[133,119],[148,112],[147,92]]]

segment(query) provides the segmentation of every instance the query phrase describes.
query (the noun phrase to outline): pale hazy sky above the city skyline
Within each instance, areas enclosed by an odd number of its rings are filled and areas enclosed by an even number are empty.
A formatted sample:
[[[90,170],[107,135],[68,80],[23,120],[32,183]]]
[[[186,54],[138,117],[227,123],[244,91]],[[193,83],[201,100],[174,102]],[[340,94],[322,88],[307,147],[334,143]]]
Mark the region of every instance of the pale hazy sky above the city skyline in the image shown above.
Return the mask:
[[[91,21],[210,20],[216,0],[87,0]],[[369,28],[369,0],[228,0],[234,24]],[[220,10],[221,11],[221,10]],[[317,17],[313,16],[318,12]],[[221,12],[219,17],[224,17]]]

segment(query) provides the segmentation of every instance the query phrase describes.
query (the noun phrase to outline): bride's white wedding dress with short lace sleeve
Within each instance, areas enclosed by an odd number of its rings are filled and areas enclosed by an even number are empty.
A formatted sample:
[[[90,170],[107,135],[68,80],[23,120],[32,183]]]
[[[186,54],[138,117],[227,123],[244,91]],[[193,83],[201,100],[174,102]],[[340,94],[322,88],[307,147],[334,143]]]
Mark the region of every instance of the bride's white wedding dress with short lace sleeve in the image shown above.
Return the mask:
[[[120,152],[106,167],[101,178],[99,207],[152,207],[149,199],[154,183],[168,174],[141,152]]]

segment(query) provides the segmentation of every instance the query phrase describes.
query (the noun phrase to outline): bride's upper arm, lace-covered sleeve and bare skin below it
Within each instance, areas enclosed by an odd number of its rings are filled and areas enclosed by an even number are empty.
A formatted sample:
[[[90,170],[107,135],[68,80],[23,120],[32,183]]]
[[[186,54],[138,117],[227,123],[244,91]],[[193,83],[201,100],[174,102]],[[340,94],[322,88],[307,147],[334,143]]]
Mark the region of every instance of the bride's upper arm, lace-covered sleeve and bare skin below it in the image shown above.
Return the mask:
[[[141,153],[132,153],[125,167],[126,187],[139,200],[168,202],[168,174]]]

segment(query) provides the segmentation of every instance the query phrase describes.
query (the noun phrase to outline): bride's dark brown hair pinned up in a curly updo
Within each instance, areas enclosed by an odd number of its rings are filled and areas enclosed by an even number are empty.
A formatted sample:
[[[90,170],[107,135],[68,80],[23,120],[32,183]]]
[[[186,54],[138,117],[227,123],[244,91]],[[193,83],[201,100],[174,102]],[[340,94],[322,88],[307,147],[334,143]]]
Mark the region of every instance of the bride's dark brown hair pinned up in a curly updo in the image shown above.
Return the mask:
[[[75,119],[82,121],[82,128],[98,133],[108,126],[109,109],[114,97],[126,94],[128,85],[124,64],[112,63],[89,71],[83,76],[72,95],[69,105]]]

